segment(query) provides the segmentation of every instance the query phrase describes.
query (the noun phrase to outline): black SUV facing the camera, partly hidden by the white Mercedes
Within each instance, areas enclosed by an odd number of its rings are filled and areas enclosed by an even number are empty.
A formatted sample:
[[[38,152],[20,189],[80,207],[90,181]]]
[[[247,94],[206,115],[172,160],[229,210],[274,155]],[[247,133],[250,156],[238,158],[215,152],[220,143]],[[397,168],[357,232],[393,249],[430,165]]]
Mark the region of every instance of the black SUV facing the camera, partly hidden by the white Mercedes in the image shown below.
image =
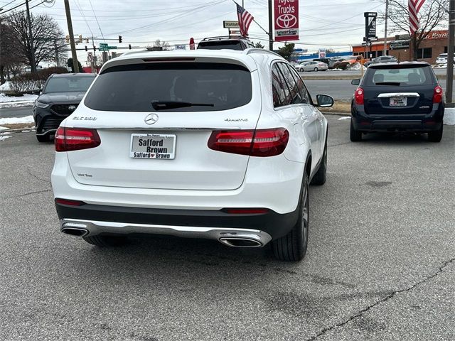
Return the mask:
[[[50,75],[33,104],[36,139],[49,141],[60,123],[73,114],[96,75],[94,73],[63,73]]]

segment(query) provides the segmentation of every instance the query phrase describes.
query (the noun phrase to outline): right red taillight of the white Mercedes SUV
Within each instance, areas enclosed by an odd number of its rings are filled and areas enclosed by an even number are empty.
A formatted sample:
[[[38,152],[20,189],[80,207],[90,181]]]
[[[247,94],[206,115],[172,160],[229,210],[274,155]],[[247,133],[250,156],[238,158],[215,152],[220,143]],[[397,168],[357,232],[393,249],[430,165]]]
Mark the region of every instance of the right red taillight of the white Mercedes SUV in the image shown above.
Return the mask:
[[[250,156],[275,156],[283,153],[289,141],[284,128],[213,131],[208,148],[214,151]]]

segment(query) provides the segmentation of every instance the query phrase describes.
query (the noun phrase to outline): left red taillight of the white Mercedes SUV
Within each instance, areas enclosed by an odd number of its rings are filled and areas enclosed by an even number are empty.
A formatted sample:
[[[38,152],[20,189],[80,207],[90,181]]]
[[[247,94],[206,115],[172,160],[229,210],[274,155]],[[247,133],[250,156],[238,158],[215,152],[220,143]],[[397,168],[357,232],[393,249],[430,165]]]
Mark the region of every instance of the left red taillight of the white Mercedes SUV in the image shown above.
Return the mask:
[[[101,139],[95,129],[64,128],[55,133],[55,151],[79,151],[100,146]]]

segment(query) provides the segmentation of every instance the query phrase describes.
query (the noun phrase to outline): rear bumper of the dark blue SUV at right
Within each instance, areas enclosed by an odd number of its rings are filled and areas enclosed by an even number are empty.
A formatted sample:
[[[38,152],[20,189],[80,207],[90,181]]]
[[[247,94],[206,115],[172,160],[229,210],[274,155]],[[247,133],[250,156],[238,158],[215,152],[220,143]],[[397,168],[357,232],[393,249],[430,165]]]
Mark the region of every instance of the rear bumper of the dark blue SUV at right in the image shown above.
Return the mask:
[[[375,114],[365,113],[365,108],[353,105],[353,126],[358,131],[412,131],[426,133],[441,129],[444,105],[439,104],[429,114]]]

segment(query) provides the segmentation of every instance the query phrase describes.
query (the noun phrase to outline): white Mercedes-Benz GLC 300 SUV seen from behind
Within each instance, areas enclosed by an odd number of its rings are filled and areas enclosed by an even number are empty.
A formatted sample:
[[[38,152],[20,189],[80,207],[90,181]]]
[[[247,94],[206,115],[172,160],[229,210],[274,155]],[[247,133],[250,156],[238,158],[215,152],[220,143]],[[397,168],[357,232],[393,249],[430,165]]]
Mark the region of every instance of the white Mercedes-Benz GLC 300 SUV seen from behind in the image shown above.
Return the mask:
[[[55,134],[60,229],[215,239],[299,261],[327,121],[294,67],[260,49],[133,53],[100,70]]]

